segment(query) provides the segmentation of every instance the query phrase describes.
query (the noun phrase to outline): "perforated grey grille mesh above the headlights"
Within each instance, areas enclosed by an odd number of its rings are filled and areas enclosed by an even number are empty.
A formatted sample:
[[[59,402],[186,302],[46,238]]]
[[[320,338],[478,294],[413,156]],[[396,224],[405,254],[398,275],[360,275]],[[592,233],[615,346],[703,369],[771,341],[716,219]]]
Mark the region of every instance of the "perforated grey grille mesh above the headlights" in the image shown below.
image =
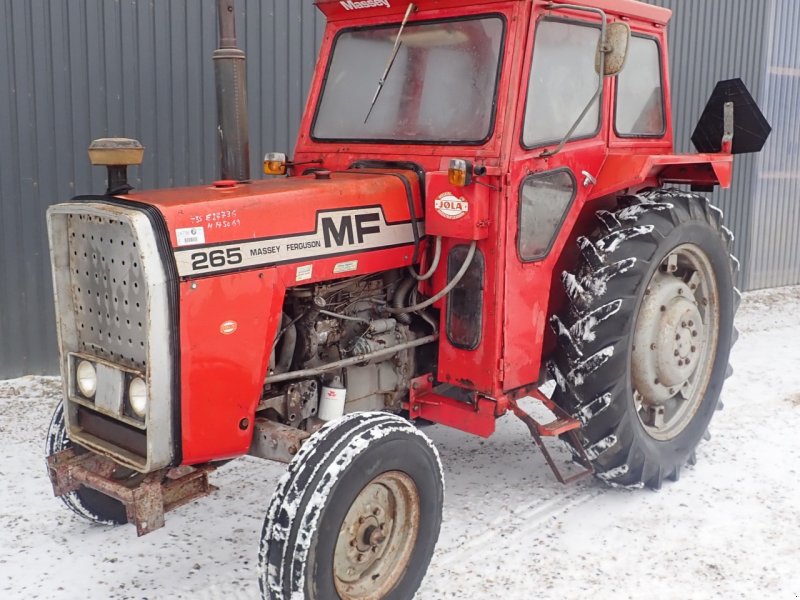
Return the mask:
[[[69,215],[68,236],[79,351],[144,370],[147,288],[130,225]]]

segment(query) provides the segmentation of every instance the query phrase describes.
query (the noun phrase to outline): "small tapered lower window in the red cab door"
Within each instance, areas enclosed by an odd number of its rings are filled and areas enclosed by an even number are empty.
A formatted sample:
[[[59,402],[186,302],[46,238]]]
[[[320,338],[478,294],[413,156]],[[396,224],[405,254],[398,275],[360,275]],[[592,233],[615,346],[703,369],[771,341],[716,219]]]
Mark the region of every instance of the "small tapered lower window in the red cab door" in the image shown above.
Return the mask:
[[[575,198],[575,178],[566,169],[531,175],[519,195],[519,257],[524,262],[547,256]]]

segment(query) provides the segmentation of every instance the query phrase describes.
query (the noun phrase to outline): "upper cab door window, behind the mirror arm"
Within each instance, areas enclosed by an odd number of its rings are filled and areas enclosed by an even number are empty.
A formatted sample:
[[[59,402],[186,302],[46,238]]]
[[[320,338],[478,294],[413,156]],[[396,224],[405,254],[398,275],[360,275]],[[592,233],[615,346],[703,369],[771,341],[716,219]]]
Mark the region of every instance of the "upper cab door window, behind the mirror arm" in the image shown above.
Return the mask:
[[[560,141],[597,91],[595,70],[600,29],[591,25],[540,21],[536,27],[522,144],[526,148]],[[600,101],[573,134],[600,128]]]

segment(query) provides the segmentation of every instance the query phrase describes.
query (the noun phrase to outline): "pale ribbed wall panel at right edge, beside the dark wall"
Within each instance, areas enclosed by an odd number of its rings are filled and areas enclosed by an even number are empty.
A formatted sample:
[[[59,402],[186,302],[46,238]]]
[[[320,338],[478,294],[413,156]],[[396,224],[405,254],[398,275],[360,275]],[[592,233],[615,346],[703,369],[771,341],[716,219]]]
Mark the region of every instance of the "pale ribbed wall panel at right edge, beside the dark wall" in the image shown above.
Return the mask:
[[[773,126],[758,156],[747,287],[800,283],[800,2],[774,0],[761,105]]]

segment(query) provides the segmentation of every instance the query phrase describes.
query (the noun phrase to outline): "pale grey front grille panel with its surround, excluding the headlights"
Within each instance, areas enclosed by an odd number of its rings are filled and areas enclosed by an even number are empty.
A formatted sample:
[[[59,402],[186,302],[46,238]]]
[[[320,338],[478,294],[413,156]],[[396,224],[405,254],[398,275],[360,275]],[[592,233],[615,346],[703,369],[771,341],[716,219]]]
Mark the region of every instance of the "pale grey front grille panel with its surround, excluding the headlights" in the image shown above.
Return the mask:
[[[70,439],[118,463],[150,472],[172,463],[173,289],[150,216],[110,202],[48,210],[50,254]],[[94,397],[80,393],[76,365],[96,367]],[[148,408],[131,416],[127,385],[144,378]]]

